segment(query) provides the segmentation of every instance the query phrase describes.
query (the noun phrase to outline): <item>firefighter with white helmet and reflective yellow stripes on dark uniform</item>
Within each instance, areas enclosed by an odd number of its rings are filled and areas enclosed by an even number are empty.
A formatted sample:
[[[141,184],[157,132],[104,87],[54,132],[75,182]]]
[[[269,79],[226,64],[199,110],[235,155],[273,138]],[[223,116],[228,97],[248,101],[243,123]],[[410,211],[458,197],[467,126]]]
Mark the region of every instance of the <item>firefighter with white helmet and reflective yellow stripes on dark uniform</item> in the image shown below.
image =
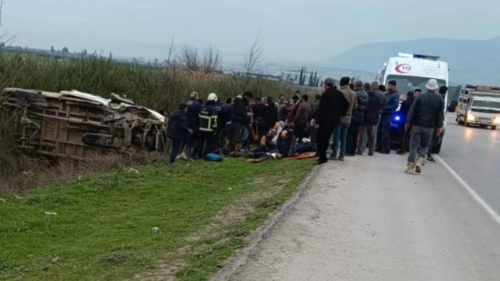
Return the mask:
[[[217,112],[214,106],[216,101],[217,95],[209,94],[207,103],[200,112],[200,149],[198,154],[200,157],[213,153],[217,144]]]

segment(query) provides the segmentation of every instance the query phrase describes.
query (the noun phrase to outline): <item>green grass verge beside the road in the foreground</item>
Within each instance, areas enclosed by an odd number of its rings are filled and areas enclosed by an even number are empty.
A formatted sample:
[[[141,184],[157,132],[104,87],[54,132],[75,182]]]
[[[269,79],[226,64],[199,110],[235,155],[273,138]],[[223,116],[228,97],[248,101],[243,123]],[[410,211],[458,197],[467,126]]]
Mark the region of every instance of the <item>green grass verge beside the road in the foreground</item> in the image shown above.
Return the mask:
[[[0,202],[0,279],[123,280],[188,247],[178,258],[180,280],[205,280],[216,265],[244,245],[280,202],[311,171],[311,160],[184,162],[136,167],[140,175],[115,171],[66,185],[30,191]],[[255,202],[244,220],[213,236],[190,240],[221,209],[249,194],[278,194]],[[231,190],[229,190],[231,187]],[[45,211],[57,215],[44,214]],[[152,233],[159,227],[160,233]]]

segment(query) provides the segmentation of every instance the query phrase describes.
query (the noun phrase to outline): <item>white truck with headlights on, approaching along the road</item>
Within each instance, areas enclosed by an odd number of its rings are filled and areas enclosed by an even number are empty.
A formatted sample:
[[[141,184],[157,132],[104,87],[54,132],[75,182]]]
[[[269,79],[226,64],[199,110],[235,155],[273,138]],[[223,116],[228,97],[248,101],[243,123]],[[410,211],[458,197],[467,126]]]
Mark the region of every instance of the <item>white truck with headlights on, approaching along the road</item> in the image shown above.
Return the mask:
[[[460,90],[457,123],[497,129],[500,125],[500,88],[467,85]]]

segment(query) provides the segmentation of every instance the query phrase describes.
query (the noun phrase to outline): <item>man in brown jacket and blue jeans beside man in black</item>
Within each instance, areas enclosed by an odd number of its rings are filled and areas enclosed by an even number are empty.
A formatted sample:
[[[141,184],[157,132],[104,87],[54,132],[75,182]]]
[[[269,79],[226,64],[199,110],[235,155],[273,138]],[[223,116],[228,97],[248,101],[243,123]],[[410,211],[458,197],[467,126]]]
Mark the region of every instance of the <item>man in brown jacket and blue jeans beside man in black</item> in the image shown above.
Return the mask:
[[[344,161],[344,156],[346,155],[346,141],[347,141],[347,129],[351,125],[351,119],[353,117],[353,110],[357,108],[357,98],[356,93],[351,90],[349,85],[351,79],[349,77],[342,77],[340,79],[340,92],[344,95],[345,100],[348,103],[348,109],[346,114],[340,119],[340,123],[337,124],[333,131],[333,143],[331,145],[331,156],[330,160],[340,160]],[[339,152],[340,144],[340,152]],[[337,158],[337,152],[339,153]]]

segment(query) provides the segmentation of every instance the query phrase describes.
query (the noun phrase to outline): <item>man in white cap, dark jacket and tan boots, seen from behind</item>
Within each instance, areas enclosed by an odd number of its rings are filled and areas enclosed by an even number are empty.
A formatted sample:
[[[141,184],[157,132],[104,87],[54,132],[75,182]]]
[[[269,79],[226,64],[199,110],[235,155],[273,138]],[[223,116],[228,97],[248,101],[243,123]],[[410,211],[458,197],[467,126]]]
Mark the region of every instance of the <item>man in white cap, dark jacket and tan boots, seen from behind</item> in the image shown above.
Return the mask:
[[[436,94],[439,85],[430,79],[426,88],[427,92],[415,99],[406,117],[405,129],[410,132],[410,156],[405,170],[408,174],[421,174],[435,129],[438,136],[443,132],[444,100]]]

